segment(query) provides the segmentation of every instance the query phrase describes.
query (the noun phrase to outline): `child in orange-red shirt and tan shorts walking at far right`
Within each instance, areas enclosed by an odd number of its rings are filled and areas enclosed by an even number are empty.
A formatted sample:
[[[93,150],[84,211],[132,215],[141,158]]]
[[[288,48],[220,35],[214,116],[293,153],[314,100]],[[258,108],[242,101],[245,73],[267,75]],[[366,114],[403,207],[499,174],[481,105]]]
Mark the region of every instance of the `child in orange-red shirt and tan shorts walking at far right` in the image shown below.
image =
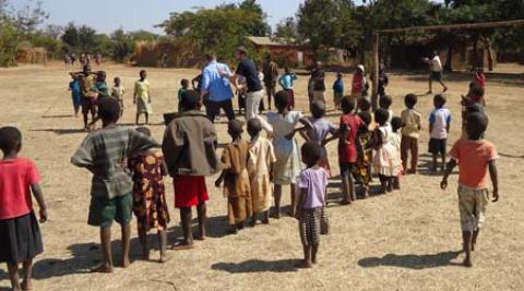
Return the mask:
[[[468,138],[458,140],[451,149],[440,187],[448,187],[448,177],[458,165],[458,209],[461,214],[463,247],[466,253],[464,266],[472,267],[472,251],[475,251],[480,227],[485,221],[489,196],[488,169],[493,183],[493,199],[499,199],[499,180],[495,160],[498,158],[495,145],[483,140],[488,126],[483,113],[467,116],[466,131]]]

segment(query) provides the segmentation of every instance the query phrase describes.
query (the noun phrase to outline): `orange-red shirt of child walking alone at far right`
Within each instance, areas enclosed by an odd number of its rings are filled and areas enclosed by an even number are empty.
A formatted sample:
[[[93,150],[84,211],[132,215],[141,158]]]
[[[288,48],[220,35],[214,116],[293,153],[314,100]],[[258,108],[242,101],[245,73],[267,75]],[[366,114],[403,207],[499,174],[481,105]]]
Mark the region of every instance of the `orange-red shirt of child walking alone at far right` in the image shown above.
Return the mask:
[[[471,189],[489,187],[488,163],[497,159],[495,145],[487,141],[458,140],[450,156],[458,163],[458,183]]]

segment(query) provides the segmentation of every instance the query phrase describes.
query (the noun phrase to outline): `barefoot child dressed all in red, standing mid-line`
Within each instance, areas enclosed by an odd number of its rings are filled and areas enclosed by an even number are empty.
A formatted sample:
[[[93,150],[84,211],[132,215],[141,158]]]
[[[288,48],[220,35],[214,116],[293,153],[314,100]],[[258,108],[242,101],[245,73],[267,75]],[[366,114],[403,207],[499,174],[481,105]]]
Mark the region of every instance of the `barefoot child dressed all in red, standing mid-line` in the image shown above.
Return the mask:
[[[338,162],[344,194],[342,204],[350,204],[352,201],[357,199],[352,172],[357,162],[358,153],[362,153],[359,135],[366,125],[358,116],[354,114],[355,101],[349,96],[342,99],[341,106],[344,112],[341,117],[338,140]]]

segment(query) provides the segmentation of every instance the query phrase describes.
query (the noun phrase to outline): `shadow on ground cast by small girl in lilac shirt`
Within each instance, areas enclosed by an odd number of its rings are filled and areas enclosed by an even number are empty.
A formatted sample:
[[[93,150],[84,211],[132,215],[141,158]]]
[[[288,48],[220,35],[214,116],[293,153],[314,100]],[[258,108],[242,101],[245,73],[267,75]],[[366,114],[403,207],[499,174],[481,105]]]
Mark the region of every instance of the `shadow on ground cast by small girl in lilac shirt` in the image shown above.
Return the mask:
[[[216,263],[211,266],[213,270],[223,270],[229,274],[239,272],[289,272],[297,271],[295,267],[300,259],[262,260],[250,259],[242,263]]]

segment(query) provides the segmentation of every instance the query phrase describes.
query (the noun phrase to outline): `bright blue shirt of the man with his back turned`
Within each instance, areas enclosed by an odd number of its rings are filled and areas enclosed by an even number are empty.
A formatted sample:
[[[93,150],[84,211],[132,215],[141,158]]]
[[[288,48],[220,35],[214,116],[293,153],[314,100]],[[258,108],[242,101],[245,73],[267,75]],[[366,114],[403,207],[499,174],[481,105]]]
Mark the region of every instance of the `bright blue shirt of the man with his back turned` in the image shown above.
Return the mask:
[[[202,90],[210,93],[210,100],[225,101],[233,98],[233,89],[229,84],[229,78],[221,76],[218,70],[226,71],[231,75],[231,71],[225,63],[217,61],[210,62],[202,72]]]

